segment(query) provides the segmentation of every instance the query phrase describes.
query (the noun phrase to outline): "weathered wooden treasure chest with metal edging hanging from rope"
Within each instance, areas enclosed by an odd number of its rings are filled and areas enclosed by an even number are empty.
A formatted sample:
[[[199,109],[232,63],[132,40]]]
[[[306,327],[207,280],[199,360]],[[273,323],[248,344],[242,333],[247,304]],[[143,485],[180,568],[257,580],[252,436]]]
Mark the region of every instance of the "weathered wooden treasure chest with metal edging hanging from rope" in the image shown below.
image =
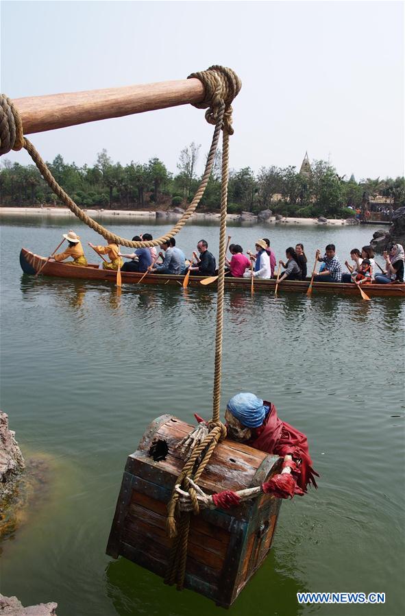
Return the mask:
[[[167,573],[172,541],[165,529],[167,502],[184,466],[175,445],[193,428],[162,415],[127,458],[107,546],[113,558],[125,556],[158,576]],[[225,440],[215,448],[199,486],[208,494],[259,486],[280,473],[281,464],[277,456]],[[184,587],[230,606],[270,550],[280,503],[262,494],[227,510],[192,515]]]

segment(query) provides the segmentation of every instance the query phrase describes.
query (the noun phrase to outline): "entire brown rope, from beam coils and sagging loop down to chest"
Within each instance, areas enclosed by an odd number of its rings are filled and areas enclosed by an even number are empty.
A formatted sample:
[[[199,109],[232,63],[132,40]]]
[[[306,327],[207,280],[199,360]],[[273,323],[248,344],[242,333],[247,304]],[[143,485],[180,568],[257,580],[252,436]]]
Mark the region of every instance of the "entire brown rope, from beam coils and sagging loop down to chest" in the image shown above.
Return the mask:
[[[193,503],[193,513],[199,513],[199,504],[197,501],[197,493],[195,487],[189,481],[190,479],[197,484],[201,474],[204,472],[208,464],[212,452],[217,443],[225,439],[226,428],[220,419],[220,402],[221,402],[221,367],[222,367],[222,338],[223,338],[223,295],[225,287],[225,238],[226,238],[226,215],[228,201],[228,176],[229,176],[229,136],[233,134],[232,128],[232,106],[231,103],[241,89],[241,80],[232,69],[224,66],[210,66],[207,71],[201,73],[192,73],[188,78],[197,78],[203,84],[206,92],[206,97],[203,102],[196,103],[195,107],[206,109],[206,120],[208,123],[215,125],[214,135],[206,169],[201,180],[201,184],[195,194],[193,201],[184,212],[180,221],[169,231],[168,234],[152,241],[133,242],[122,238],[108,231],[102,225],[91,219],[86,212],[83,212],[75,202],[67,195],[63,188],[59,186],[47,165],[36,151],[34,145],[23,136],[23,125],[19,116],[18,110],[13,105],[8,97],[2,96],[0,101],[0,154],[10,151],[10,149],[19,150],[25,147],[29,155],[34,160],[42,177],[45,179],[53,193],[64,202],[75,216],[82,220],[86,225],[99,233],[107,241],[112,241],[116,244],[126,247],[152,247],[158,246],[163,241],[175,236],[186,221],[191,217],[191,214],[197,208],[199,201],[204,195],[204,190],[208,184],[212,165],[214,164],[214,156],[217,151],[219,140],[219,132],[223,131],[223,154],[222,154],[222,182],[221,182],[221,214],[220,214],[220,231],[219,231],[219,277],[218,277],[218,293],[217,293],[217,325],[215,334],[215,361],[214,361],[214,386],[212,393],[212,419],[208,422],[208,435],[201,443],[193,449],[191,457],[184,465],[180,476],[175,484],[191,496]],[[179,493],[173,489],[171,499],[167,505],[167,532],[169,537],[173,539],[173,545],[170,554],[170,563],[167,570],[165,582],[168,584],[177,583],[177,588],[182,589],[184,584],[184,575],[186,571],[186,558],[188,546],[188,531],[190,529],[191,513],[180,514],[178,507]],[[180,515],[180,522],[177,525],[176,515]],[[177,528],[178,526],[178,528]]]

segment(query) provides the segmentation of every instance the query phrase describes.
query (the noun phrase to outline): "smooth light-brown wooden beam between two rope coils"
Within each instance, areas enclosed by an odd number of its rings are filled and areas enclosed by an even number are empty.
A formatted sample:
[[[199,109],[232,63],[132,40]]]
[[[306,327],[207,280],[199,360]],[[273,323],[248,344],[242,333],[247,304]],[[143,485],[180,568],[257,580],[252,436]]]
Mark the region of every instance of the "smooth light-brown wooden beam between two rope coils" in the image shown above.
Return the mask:
[[[199,79],[13,99],[24,134],[119,118],[204,100]]]

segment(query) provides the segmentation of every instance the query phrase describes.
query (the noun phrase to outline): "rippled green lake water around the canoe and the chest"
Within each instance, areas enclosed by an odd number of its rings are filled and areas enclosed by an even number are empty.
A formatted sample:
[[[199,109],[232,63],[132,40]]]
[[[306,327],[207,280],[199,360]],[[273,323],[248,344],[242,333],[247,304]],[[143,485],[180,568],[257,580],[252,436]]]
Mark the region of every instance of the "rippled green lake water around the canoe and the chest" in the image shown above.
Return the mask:
[[[97,242],[71,220],[3,219],[1,229],[1,408],[23,453],[53,460],[43,502],[3,543],[1,592],[26,605],[56,601],[59,616],[217,613],[204,597],[104,554],[127,454],[149,421],[210,415],[216,295],[140,286],[117,300],[107,283],[22,274],[22,246],[50,254],[72,226]],[[110,227],[126,237],[147,230]],[[149,225],[154,236],[166,229]],[[244,249],[270,236],[278,258],[301,241],[310,269],[317,247],[336,243],[344,261],[373,230],[229,233]],[[189,255],[202,237],[215,247],[218,234],[189,225],[178,245]],[[321,474],[318,491],[282,504],[271,555],[232,616],[405,613],[404,308],[397,298],[226,293],[223,406],[238,391],[271,399],[306,432]],[[297,591],[385,592],[386,603],[298,606]]]

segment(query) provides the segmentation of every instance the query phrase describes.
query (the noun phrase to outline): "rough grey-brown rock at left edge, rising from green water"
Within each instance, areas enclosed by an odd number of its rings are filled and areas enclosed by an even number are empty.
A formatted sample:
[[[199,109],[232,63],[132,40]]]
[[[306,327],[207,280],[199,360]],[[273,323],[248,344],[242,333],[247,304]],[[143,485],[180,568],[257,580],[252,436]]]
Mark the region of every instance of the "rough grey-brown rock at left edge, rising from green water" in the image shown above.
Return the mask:
[[[25,464],[15,433],[8,428],[8,415],[0,410],[0,513],[12,493]]]

